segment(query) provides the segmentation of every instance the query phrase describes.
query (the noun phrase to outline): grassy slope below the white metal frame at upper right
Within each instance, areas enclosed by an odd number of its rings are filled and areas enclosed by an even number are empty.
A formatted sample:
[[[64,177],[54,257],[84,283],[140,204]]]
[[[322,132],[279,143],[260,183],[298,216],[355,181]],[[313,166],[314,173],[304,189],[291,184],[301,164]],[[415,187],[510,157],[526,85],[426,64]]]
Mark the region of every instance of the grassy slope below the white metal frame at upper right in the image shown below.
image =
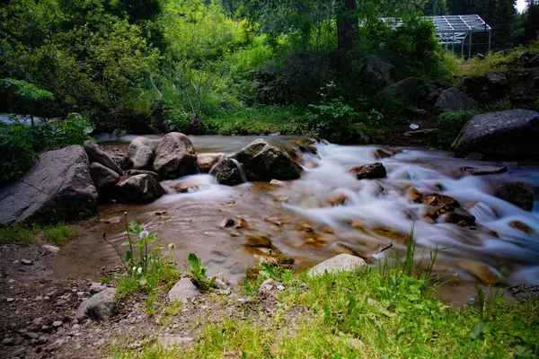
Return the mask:
[[[509,53],[490,53],[484,58],[473,57],[465,62],[461,59],[456,73],[459,77],[464,75],[480,77],[493,72],[506,72],[509,67],[515,66],[519,55],[528,51],[539,51],[539,41],[532,41],[526,47],[519,46]]]

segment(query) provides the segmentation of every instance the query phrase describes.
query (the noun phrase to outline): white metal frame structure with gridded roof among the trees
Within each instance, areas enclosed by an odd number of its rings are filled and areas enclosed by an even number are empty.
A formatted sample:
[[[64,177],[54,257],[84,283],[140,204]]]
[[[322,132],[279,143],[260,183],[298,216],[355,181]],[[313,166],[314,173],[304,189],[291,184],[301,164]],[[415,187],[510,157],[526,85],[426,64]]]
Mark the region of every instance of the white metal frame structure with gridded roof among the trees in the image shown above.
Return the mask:
[[[426,16],[434,22],[436,27],[435,34],[440,42],[451,48],[453,53],[464,56],[464,48],[467,49],[468,57],[472,57],[472,48],[484,48],[485,53],[490,52],[490,42],[492,38],[492,29],[489,24],[484,22],[477,15],[443,15],[443,16]],[[402,21],[394,18],[384,18],[384,22],[391,27],[396,28],[401,26]],[[473,43],[473,34],[481,33],[483,41]],[[460,53],[458,51],[460,47]]]

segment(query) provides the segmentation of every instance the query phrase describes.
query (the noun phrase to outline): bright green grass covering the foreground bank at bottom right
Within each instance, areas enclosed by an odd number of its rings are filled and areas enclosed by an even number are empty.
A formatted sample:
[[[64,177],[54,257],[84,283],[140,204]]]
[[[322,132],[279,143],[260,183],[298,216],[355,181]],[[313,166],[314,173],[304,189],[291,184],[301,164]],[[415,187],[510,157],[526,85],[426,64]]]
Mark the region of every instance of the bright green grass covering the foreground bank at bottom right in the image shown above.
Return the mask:
[[[412,232],[411,232],[412,237]],[[398,257],[398,255],[397,255]],[[405,257],[379,270],[297,275],[263,266],[254,279],[277,279],[273,309],[262,302],[245,318],[225,316],[202,323],[194,346],[150,345],[118,358],[508,358],[539,355],[539,303],[507,303],[501,291],[455,309],[434,296],[431,270],[437,250],[420,271],[415,241]],[[393,264],[389,264],[393,263]],[[489,298],[487,298],[489,297]],[[476,303],[474,306],[473,304]],[[175,311],[173,311],[175,312]]]

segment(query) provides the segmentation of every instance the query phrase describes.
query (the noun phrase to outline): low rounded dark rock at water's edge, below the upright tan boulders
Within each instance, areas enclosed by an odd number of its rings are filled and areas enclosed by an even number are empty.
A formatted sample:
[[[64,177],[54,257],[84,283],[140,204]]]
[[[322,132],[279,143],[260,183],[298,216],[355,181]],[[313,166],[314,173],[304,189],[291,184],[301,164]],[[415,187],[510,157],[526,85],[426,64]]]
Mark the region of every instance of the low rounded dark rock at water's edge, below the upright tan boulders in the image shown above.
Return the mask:
[[[154,202],[164,194],[164,189],[159,182],[149,174],[130,177],[120,182],[118,188],[123,198],[133,202]]]

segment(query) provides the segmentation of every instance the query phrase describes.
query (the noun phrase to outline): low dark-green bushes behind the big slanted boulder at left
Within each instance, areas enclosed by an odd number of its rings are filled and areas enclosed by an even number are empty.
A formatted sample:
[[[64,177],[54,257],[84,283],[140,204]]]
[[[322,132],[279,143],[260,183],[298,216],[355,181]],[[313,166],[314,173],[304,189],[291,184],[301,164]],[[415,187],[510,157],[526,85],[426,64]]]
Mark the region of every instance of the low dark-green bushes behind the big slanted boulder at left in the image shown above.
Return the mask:
[[[12,117],[9,124],[0,122],[0,186],[17,180],[37,161],[38,155],[90,139],[85,130],[89,119],[71,113],[66,119],[42,121],[29,127]]]

